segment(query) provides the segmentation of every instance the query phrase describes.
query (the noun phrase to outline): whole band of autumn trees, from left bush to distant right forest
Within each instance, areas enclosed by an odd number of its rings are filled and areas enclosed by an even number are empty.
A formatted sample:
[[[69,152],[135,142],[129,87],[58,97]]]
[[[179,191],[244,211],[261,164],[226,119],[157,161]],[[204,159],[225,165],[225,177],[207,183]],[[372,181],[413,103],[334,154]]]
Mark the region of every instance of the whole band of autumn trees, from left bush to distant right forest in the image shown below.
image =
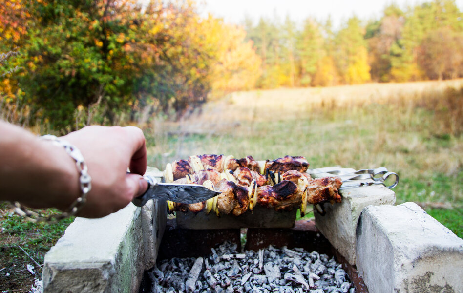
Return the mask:
[[[452,0],[336,31],[330,19],[227,24],[193,0],[6,0],[0,51],[0,117],[67,132],[179,116],[211,93],[462,77],[463,21]]]

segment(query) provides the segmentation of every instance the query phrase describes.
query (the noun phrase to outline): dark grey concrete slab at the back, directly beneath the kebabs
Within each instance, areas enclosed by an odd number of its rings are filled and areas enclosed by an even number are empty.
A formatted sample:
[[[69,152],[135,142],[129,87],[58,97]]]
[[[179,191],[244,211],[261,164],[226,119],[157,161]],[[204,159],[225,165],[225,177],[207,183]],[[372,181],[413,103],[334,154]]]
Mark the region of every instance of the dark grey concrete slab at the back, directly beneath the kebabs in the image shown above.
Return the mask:
[[[177,225],[183,229],[239,229],[239,228],[291,228],[294,227],[296,211],[275,211],[257,204],[253,211],[234,216],[214,213],[177,212]]]

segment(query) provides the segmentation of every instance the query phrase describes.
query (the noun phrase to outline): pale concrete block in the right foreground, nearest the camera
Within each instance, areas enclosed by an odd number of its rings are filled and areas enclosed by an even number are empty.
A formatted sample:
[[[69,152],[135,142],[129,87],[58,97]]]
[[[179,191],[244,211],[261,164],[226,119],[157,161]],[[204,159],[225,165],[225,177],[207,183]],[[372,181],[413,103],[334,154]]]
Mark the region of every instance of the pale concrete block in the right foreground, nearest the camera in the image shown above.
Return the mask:
[[[463,240],[415,203],[369,206],[357,268],[371,293],[463,292]]]

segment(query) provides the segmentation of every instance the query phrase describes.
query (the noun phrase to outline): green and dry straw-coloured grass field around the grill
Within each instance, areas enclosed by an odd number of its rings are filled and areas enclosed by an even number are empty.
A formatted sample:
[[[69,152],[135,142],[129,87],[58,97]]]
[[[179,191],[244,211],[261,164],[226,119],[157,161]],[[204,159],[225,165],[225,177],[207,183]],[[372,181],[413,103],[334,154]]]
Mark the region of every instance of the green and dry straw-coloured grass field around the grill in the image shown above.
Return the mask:
[[[313,168],[387,167],[400,175],[398,204],[419,203],[463,237],[462,86],[456,80],[233,93],[179,122],[154,120],[145,129],[148,165],[216,153],[303,155]],[[1,204],[0,291],[30,289],[26,264],[35,265],[31,257],[42,264],[69,223],[34,225]]]

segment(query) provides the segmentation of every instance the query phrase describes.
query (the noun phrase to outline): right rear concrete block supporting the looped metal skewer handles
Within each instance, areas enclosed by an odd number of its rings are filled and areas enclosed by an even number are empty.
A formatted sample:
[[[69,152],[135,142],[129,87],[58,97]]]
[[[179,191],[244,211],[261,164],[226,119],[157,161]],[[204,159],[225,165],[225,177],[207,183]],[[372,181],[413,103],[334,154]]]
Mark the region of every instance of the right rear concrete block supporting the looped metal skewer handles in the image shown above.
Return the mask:
[[[341,203],[324,204],[326,211],[324,216],[314,212],[315,222],[316,227],[331,245],[346,258],[349,264],[354,265],[356,228],[362,209],[369,205],[393,205],[396,202],[396,194],[382,185],[343,188],[340,194]]]

